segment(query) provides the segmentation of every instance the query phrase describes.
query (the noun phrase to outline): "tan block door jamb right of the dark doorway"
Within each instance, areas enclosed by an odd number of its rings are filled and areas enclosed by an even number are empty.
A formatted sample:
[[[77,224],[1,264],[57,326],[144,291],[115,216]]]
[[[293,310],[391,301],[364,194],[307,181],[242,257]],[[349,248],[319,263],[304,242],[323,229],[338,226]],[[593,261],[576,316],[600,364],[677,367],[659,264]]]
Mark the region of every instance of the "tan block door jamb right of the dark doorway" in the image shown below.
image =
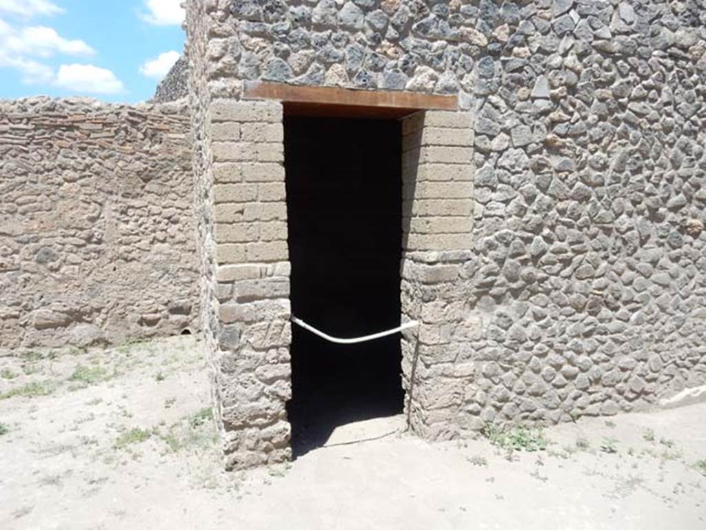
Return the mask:
[[[463,284],[473,259],[473,119],[460,110],[402,121],[402,313],[419,322],[402,337],[402,385],[408,426],[426,440],[464,434],[474,384]]]

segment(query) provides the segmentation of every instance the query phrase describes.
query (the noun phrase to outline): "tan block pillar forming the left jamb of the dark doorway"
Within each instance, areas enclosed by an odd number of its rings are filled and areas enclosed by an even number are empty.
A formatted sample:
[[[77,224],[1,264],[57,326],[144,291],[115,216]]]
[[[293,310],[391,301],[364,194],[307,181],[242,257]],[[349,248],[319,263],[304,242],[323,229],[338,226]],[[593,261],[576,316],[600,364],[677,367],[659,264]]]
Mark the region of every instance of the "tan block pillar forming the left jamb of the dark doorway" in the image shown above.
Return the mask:
[[[289,256],[282,104],[205,108],[207,355],[227,469],[291,458]]]

